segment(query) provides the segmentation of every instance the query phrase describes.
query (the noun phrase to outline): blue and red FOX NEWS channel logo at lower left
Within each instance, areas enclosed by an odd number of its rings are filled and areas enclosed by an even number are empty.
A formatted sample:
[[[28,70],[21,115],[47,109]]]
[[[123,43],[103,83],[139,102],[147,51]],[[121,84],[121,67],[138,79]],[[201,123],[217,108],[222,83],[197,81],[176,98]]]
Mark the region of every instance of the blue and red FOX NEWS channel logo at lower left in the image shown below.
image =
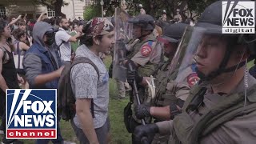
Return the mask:
[[[57,90],[6,90],[6,138],[56,139]]]

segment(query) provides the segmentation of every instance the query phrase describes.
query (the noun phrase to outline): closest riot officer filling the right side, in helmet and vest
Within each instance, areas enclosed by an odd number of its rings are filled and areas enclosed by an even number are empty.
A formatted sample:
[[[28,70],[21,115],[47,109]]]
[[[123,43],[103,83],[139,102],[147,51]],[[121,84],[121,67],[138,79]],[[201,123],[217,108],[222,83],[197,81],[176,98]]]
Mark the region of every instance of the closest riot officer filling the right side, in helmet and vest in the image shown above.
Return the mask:
[[[192,56],[201,81],[190,90],[182,114],[138,126],[136,140],[159,133],[171,134],[170,143],[254,143],[256,79],[248,74],[246,62],[255,58],[255,34],[222,34],[222,1],[218,1],[204,10],[184,38],[189,43],[183,43],[186,48],[179,51],[174,67],[181,70]]]

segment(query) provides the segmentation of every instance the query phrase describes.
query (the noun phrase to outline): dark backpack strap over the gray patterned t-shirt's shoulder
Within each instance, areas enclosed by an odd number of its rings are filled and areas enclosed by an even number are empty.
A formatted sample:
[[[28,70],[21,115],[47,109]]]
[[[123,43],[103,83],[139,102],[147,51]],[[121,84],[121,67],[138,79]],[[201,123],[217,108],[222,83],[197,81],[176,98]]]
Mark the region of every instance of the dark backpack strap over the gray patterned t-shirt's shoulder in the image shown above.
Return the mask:
[[[71,65],[71,69],[72,69],[73,66],[75,66],[78,63],[89,63],[91,66],[94,66],[94,69],[96,70],[96,72],[98,74],[98,81],[99,81],[100,75],[99,75],[98,67],[94,64],[94,62],[92,62],[89,58],[86,58],[86,57],[78,57],[78,58],[74,59],[74,62]],[[90,109],[91,109],[92,117],[95,118],[95,115],[94,115],[94,99],[91,99],[91,101],[90,101]]]

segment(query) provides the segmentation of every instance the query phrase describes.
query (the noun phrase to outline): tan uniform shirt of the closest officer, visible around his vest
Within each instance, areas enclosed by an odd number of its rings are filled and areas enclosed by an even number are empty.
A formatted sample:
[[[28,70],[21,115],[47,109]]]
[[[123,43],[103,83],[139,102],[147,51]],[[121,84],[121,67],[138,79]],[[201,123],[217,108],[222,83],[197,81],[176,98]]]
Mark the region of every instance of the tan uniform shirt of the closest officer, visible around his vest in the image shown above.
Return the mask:
[[[242,81],[232,93],[241,92],[244,90],[244,83]],[[249,87],[256,83],[255,78],[248,76]],[[226,94],[212,94],[211,90],[207,90],[204,96],[203,106],[200,106],[198,111],[190,113],[194,121],[198,121],[211,106],[222,101]],[[159,133],[171,134],[173,129],[173,121],[158,122]],[[256,142],[256,111],[236,117],[233,120],[218,126],[211,134],[199,140],[202,144],[254,144]],[[170,142],[171,143],[171,142]]]

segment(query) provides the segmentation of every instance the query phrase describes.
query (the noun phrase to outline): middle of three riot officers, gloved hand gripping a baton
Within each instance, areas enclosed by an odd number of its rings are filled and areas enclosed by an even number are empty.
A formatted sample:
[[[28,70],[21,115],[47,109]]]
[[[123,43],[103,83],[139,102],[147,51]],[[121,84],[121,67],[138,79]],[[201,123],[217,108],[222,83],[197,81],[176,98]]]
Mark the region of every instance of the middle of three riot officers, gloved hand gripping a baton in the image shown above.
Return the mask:
[[[170,26],[166,26],[166,29],[161,38],[158,38],[158,42],[161,42],[164,54],[168,61],[164,62],[162,66],[158,67],[158,70],[154,73],[154,85],[156,86],[156,95],[152,98],[150,104],[141,104],[135,107],[135,115],[137,118],[153,117],[154,122],[161,122],[163,120],[173,119],[175,115],[181,113],[181,108],[186,100],[190,87],[195,83],[191,83],[188,79],[197,78],[195,74],[195,65],[187,67],[182,73],[182,79],[179,82],[174,82],[177,73],[170,73],[170,63],[174,58],[174,54],[178,48],[178,43],[181,41],[182,34],[186,30],[185,23],[176,23]],[[146,80],[150,78],[141,78],[138,74],[128,74],[128,81],[133,81],[141,85],[147,85]],[[152,143],[166,143],[168,142],[169,135],[154,137]]]

